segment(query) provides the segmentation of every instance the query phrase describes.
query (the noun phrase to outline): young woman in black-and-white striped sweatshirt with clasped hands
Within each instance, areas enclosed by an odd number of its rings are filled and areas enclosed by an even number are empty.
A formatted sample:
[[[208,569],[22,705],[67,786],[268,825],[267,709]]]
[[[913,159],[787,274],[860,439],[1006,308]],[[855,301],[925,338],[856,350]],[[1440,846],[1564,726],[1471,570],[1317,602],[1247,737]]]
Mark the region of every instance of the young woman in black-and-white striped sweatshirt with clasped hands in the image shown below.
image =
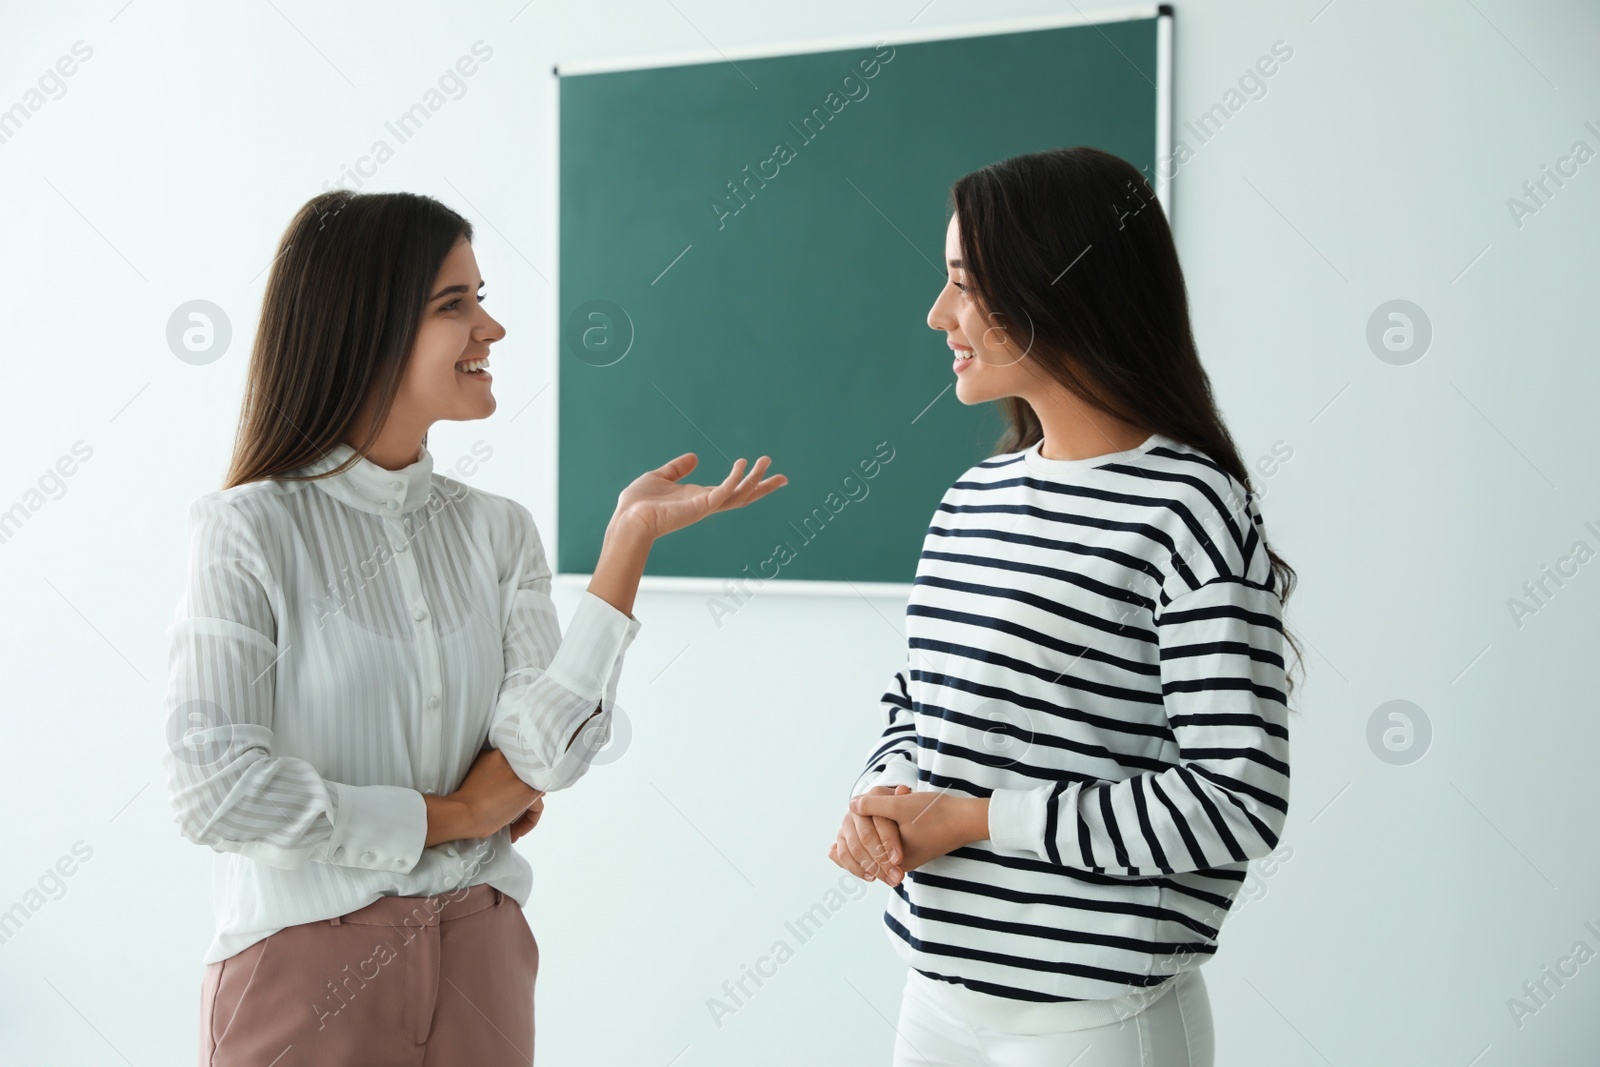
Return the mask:
[[[1200,966],[1288,814],[1294,571],[1144,176],[1037,152],[952,208],[928,325],[1010,430],[928,525],[829,854],[891,888],[896,1067],[1210,1067]]]

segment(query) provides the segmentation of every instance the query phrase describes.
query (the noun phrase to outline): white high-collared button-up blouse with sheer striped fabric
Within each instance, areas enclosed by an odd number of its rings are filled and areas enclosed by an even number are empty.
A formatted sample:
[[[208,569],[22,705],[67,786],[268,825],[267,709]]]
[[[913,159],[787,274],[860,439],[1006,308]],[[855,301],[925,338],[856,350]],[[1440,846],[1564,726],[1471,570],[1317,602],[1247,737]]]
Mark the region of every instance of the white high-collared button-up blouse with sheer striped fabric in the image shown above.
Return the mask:
[[[586,590],[563,638],[533,515],[426,448],[197,498],[162,763],[179,830],[216,853],[205,963],[382,894],[486,881],[526,904],[509,830],[422,848],[422,793],[454,792],[485,747],[534,789],[578,781],[638,627]]]

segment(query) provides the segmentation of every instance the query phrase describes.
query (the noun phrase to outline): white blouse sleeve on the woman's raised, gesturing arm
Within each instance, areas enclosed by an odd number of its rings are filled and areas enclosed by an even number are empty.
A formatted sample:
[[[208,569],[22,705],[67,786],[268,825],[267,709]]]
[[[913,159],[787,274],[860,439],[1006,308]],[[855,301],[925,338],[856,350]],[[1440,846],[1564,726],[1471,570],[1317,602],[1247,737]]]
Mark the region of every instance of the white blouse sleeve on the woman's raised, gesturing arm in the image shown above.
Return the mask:
[[[522,781],[554,792],[582,777],[611,739],[622,657],[640,622],[584,590],[563,637],[533,515],[515,501],[507,504],[506,677],[490,744]]]

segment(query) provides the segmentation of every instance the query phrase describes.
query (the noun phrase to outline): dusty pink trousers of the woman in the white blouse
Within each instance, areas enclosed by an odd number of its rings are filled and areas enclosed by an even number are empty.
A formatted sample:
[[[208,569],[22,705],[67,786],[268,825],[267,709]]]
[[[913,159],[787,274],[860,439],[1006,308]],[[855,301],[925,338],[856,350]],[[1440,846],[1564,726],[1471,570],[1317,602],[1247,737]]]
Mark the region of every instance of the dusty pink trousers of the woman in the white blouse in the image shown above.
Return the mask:
[[[206,965],[200,1067],[526,1067],[538,969],[494,886],[378,897]]]

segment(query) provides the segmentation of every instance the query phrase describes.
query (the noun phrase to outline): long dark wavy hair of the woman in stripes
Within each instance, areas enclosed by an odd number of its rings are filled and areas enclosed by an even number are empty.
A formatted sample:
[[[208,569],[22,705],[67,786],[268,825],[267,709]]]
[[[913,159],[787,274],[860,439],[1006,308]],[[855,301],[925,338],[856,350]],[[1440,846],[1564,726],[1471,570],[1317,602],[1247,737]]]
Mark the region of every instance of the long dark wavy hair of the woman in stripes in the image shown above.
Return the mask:
[[[1254,493],[1200,366],[1166,214],[1136,166],[1088,146],[1030,152],[957,179],[950,206],[971,291],[990,322],[1022,334],[1034,366],[1085,403],[1205,453]],[[1002,411],[994,454],[1043,437],[1021,397]],[[1286,603],[1294,568],[1270,545],[1267,558]]]

